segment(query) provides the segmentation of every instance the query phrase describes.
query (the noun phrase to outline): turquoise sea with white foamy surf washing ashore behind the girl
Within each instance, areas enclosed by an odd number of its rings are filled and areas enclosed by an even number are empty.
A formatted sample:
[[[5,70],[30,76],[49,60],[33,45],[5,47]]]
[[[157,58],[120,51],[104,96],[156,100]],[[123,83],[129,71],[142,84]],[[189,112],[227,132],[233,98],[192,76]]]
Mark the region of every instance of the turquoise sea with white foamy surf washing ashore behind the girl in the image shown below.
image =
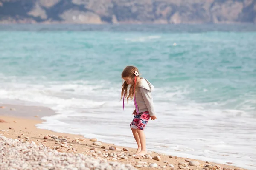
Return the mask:
[[[0,29],[0,98],[59,113],[39,128],[135,146],[133,106],[119,101],[135,65],[156,88],[149,150],[256,168],[256,29],[31,27]]]

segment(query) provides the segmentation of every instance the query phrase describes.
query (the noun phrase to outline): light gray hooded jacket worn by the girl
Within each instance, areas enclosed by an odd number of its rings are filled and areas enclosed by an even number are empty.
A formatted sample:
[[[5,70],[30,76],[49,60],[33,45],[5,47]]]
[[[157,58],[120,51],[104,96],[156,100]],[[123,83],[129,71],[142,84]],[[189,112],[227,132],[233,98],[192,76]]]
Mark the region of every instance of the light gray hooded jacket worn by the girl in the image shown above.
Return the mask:
[[[151,96],[151,91],[153,90],[154,86],[151,85],[147,79],[141,78],[135,95],[139,113],[148,111],[150,116],[154,116],[156,114],[153,105],[153,98]]]

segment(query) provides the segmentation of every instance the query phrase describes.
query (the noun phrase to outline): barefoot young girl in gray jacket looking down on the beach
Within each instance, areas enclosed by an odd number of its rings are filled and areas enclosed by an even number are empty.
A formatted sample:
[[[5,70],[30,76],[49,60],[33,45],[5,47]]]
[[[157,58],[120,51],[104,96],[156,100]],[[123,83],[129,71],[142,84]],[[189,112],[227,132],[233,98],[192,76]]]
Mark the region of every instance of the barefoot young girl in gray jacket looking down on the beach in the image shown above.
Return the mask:
[[[123,98],[123,108],[125,98],[127,98],[127,101],[134,99],[134,119],[131,122],[130,127],[138,144],[136,154],[145,155],[147,154],[147,150],[143,130],[150,118],[151,120],[157,119],[151,96],[151,91],[154,90],[154,86],[145,78],[140,77],[139,70],[134,66],[127,66],[123,70],[122,79],[125,80],[122,84],[121,93],[121,97]]]

